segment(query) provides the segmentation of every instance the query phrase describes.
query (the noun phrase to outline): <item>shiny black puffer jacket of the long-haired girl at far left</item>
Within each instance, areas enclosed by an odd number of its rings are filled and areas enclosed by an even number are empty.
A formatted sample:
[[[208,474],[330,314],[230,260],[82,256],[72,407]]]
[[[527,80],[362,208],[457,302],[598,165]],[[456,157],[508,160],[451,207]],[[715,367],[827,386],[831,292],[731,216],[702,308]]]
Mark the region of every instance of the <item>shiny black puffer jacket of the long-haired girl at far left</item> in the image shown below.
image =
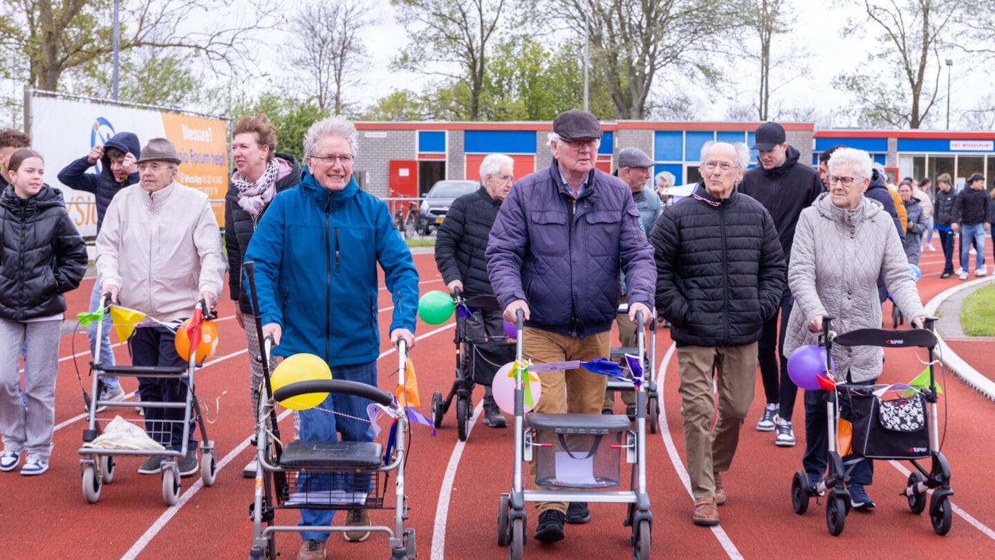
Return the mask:
[[[63,293],[87,272],[87,246],[48,185],[31,198],[0,195],[0,316],[15,321],[66,311]]]

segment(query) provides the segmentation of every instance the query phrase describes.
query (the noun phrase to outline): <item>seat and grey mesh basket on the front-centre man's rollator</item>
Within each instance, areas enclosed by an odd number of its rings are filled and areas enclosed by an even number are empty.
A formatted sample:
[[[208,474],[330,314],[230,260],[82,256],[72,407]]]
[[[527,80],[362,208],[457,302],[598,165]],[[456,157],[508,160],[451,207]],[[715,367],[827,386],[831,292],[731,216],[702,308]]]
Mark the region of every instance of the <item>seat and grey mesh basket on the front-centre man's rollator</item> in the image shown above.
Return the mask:
[[[528,417],[534,431],[535,483],[566,488],[619,485],[625,416],[539,414]]]

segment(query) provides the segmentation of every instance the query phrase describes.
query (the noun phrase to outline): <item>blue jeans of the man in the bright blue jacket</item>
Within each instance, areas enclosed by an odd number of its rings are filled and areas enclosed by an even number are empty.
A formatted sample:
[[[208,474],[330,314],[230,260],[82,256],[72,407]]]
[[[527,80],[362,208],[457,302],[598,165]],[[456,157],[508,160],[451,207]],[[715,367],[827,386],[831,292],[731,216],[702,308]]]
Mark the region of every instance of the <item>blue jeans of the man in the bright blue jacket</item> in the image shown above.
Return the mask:
[[[376,361],[335,366],[331,368],[331,376],[334,379],[358,381],[376,387]],[[300,440],[304,442],[337,442],[337,432],[341,434],[343,442],[372,442],[373,429],[369,422],[355,420],[356,418],[367,418],[366,407],[371,402],[369,399],[354,395],[328,394],[328,397],[318,406],[300,411]],[[335,414],[328,411],[334,411]],[[330,486],[332,489],[348,490],[353,488],[359,490],[364,484],[367,488],[371,486],[370,474],[356,476],[353,479],[351,474],[338,473],[334,474],[334,482],[332,482],[332,476],[333,474],[328,472],[301,472],[298,474],[298,486],[303,486],[300,488],[302,491],[306,491],[309,486],[313,486],[315,489],[328,489]],[[331,509],[301,509],[298,525],[330,525],[334,514],[335,511]],[[300,540],[308,539],[326,541],[328,533],[300,531]]]

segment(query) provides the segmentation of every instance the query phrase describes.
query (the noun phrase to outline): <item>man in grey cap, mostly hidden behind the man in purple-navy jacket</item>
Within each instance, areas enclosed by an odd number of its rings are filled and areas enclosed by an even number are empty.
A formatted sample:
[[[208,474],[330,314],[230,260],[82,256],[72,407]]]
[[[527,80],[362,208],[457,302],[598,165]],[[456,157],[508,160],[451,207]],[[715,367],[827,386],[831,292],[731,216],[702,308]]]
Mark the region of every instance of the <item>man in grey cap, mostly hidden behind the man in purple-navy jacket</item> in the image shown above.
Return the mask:
[[[618,168],[614,175],[632,190],[632,200],[639,209],[639,217],[643,222],[643,230],[646,237],[653,234],[653,226],[657,224],[662,212],[660,197],[652,187],[647,186],[650,178],[653,177],[653,165],[655,162],[646,155],[646,152],[639,148],[626,147],[619,151]],[[625,275],[619,275],[619,292],[622,294],[622,302],[628,301],[626,294]],[[647,317],[649,320],[649,317]],[[619,323],[619,344],[623,348],[631,348],[636,345],[636,323],[629,320],[629,313],[619,313],[616,317]],[[636,419],[636,393],[632,391],[622,391],[622,402],[625,403],[625,414],[630,420]],[[615,390],[605,391],[605,402],[601,408],[601,414],[612,414],[615,406]]]

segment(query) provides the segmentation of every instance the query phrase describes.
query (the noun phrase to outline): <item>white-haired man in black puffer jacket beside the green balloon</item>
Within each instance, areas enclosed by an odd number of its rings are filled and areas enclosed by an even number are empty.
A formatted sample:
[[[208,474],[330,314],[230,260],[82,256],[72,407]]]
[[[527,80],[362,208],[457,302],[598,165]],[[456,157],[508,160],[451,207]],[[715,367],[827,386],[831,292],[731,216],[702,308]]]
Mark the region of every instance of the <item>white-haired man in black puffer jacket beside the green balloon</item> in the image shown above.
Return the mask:
[[[436,236],[436,266],[450,293],[457,289],[467,297],[493,295],[488,277],[488,261],[484,256],[494,227],[500,203],[514,183],[514,161],[503,154],[493,153],[481,163],[481,188],[453,201],[446,219]],[[504,335],[504,319],[500,308],[477,309],[467,317],[465,334],[475,340]],[[463,372],[467,375],[468,402],[474,392],[468,366],[471,356],[463,355]],[[461,397],[463,397],[461,395]],[[458,397],[460,398],[460,397]],[[492,428],[504,428],[506,422],[497,408],[491,387],[484,389],[484,423]]]

